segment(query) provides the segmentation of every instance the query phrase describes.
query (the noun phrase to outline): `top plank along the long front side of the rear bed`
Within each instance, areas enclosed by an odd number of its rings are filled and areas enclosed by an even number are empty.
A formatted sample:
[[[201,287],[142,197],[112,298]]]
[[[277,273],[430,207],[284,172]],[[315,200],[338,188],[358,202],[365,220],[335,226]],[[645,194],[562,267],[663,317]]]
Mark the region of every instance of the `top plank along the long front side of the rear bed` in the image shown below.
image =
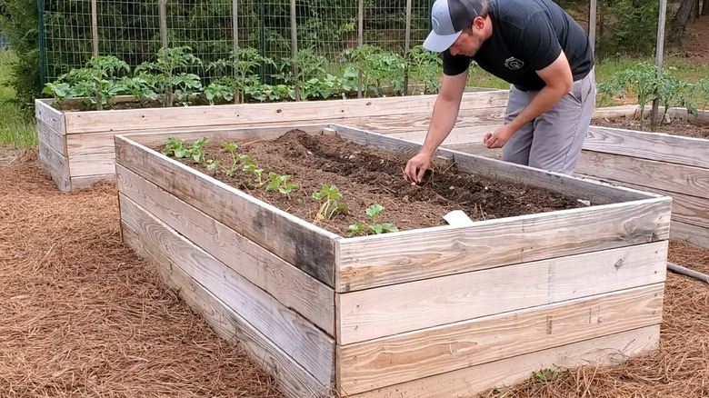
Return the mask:
[[[466,93],[462,109],[500,107],[508,93]],[[384,114],[431,113],[437,95],[318,101],[317,103],[235,104],[190,106],[169,109],[135,109],[76,112],[65,115],[67,134],[110,132],[117,129],[171,128],[218,124],[251,124],[264,120],[297,122],[337,117],[368,117]],[[337,116],[335,116],[337,115]],[[120,126],[120,127],[118,127]]]

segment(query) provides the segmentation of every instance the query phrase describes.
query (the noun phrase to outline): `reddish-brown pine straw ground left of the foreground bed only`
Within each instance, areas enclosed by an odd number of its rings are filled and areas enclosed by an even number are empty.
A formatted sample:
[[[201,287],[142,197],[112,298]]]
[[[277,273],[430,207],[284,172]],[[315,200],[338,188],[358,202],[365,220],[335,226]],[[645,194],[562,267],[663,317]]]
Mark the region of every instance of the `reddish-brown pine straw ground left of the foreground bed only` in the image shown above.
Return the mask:
[[[0,397],[282,397],[121,243],[114,185],[0,167]]]

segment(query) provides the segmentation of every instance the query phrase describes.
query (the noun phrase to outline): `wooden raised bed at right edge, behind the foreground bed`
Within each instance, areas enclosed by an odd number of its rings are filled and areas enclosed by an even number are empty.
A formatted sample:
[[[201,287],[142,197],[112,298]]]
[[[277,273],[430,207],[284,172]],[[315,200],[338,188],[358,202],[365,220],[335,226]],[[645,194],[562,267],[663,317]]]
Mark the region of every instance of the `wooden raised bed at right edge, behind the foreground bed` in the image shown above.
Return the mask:
[[[709,140],[592,125],[576,173],[672,196],[672,237],[709,248]]]

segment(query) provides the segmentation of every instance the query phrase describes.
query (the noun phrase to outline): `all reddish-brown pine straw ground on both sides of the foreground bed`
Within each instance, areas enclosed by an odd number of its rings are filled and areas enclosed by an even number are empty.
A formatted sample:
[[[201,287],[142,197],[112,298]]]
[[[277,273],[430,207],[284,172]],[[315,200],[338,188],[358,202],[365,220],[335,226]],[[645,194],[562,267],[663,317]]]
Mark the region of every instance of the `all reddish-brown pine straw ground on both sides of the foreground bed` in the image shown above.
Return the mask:
[[[0,397],[281,397],[121,243],[115,186],[59,193],[35,152],[0,165]],[[709,274],[709,251],[671,245]],[[494,397],[709,396],[709,284],[668,274],[661,347]],[[542,383],[539,383],[542,382]]]

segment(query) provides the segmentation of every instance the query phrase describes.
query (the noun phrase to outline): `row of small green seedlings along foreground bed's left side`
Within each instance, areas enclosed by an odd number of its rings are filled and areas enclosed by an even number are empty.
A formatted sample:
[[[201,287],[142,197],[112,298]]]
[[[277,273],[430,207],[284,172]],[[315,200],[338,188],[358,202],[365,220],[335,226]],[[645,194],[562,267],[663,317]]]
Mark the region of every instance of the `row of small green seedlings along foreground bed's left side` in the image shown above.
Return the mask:
[[[174,156],[178,159],[192,159],[194,164],[206,163],[209,171],[223,171],[228,176],[234,176],[241,165],[241,171],[253,174],[253,177],[246,178],[241,182],[244,188],[261,188],[265,186],[265,190],[274,190],[279,194],[285,195],[288,199],[291,198],[293,190],[298,188],[298,185],[288,184],[291,179],[289,174],[277,174],[269,172],[268,176],[264,176],[264,169],[258,167],[258,162],[248,154],[237,154],[238,145],[235,143],[223,143],[222,148],[232,155],[231,164],[222,164],[215,159],[205,159],[204,144],[208,138],[202,137],[195,140],[192,144],[185,143],[182,138],[167,138],[163,154]],[[317,219],[329,221],[335,218],[337,214],[341,214],[349,209],[347,204],[338,202],[342,199],[342,194],[336,185],[323,184],[320,191],[315,191],[311,197],[317,201]],[[396,225],[390,223],[376,224],[376,218],[384,211],[381,204],[372,204],[369,206],[365,214],[367,214],[372,224],[368,224],[364,228],[363,223],[355,223],[350,225],[345,234],[354,236],[357,234],[366,235],[369,233],[384,234],[388,232],[396,232]]]

